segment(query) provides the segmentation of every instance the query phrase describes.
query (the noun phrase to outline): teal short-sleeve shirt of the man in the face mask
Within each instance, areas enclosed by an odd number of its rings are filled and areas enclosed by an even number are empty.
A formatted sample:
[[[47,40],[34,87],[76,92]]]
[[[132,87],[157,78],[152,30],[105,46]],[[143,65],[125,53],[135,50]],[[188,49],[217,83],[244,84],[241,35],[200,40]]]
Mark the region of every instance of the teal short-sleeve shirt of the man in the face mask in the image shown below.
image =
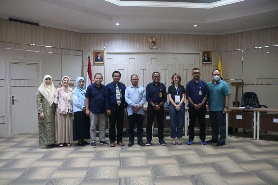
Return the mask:
[[[208,88],[209,111],[223,111],[226,96],[231,94],[229,84],[220,79],[216,84],[209,82]]]

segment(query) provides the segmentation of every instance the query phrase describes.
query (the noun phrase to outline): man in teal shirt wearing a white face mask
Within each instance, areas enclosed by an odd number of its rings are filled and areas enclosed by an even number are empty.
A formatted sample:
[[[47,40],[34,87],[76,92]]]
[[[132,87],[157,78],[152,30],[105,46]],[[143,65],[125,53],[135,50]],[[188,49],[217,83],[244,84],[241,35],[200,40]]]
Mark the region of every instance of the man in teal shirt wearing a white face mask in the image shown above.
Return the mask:
[[[226,120],[230,101],[230,87],[227,82],[221,80],[220,71],[212,71],[213,80],[208,83],[209,88],[209,117],[211,120],[211,140],[207,143],[217,143],[216,146],[225,145]],[[220,138],[218,139],[218,135]]]

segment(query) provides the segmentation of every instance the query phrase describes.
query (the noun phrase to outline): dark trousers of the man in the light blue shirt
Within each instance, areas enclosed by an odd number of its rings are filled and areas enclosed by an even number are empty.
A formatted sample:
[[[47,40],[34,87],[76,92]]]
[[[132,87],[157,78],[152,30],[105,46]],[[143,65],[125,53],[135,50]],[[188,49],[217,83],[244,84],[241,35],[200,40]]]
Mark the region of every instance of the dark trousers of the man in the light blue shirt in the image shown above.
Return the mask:
[[[137,125],[137,140],[138,142],[143,142],[143,122],[144,115],[133,113],[128,116],[128,135],[129,142],[134,142],[134,125]]]

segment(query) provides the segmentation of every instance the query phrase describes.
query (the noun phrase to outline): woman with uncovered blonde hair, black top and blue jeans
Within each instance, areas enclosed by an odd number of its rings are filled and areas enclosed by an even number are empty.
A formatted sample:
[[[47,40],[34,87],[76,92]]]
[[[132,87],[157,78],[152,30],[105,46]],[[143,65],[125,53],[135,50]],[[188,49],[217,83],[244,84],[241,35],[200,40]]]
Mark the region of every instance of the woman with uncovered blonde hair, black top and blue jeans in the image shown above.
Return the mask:
[[[178,145],[181,145],[182,126],[185,115],[185,89],[181,85],[181,76],[178,73],[172,75],[172,85],[168,88],[169,115],[171,120],[171,138],[172,144],[176,145],[176,137],[178,138]]]

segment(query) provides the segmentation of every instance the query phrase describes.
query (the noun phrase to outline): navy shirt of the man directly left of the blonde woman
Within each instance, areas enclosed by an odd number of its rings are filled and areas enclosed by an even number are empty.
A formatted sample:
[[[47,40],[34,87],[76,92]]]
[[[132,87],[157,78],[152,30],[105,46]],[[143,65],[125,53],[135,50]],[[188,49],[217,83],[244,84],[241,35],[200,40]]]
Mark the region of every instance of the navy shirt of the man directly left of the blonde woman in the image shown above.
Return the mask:
[[[162,93],[161,98],[159,97],[159,93]],[[158,85],[155,85],[154,82],[149,83],[146,87],[146,98],[147,102],[165,103],[167,101],[166,86],[162,83],[159,83]]]

